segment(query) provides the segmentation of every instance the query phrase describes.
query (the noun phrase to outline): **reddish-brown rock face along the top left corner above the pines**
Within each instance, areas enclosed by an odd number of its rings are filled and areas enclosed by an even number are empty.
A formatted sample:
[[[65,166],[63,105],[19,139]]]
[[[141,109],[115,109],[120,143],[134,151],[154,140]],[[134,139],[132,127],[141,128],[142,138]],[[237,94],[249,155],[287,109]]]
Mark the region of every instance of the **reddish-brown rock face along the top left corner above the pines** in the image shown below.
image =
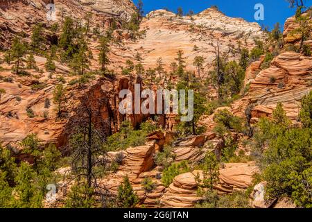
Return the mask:
[[[36,24],[50,26],[47,17],[47,4],[54,3],[55,12],[49,19],[62,24],[62,19],[69,16],[74,20],[85,21],[88,12],[92,12],[89,26],[98,26],[100,31],[110,26],[112,19],[128,21],[135,5],[130,0],[1,0],[0,1],[0,47],[8,49],[15,35],[24,33],[29,37]]]

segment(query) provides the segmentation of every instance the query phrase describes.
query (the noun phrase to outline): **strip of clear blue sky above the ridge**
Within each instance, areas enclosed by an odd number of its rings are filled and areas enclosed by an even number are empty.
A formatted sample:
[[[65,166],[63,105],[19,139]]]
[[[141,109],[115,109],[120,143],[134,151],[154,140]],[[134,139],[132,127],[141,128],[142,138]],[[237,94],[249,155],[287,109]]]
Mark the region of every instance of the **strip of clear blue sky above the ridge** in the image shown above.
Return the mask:
[[[138,0],[134,0],[137,4]],[[279,22],[281,28],[288,17],[295,14],[295,9],[289,8],[286,0],[142,0],[144,3],[144,12],[150,12],[161,8],[168,8],[173,12],[181,6],[184,12],[198,13],[210,6],[218,6],[219,10],[229,17],[242,17],[248,22],[258,22],[260,25],[272,28]],[[264,20],[255,21],[254,6],[262,3],[264,6]],[[311,0],[305,0],[306,6],[311,6]]]

